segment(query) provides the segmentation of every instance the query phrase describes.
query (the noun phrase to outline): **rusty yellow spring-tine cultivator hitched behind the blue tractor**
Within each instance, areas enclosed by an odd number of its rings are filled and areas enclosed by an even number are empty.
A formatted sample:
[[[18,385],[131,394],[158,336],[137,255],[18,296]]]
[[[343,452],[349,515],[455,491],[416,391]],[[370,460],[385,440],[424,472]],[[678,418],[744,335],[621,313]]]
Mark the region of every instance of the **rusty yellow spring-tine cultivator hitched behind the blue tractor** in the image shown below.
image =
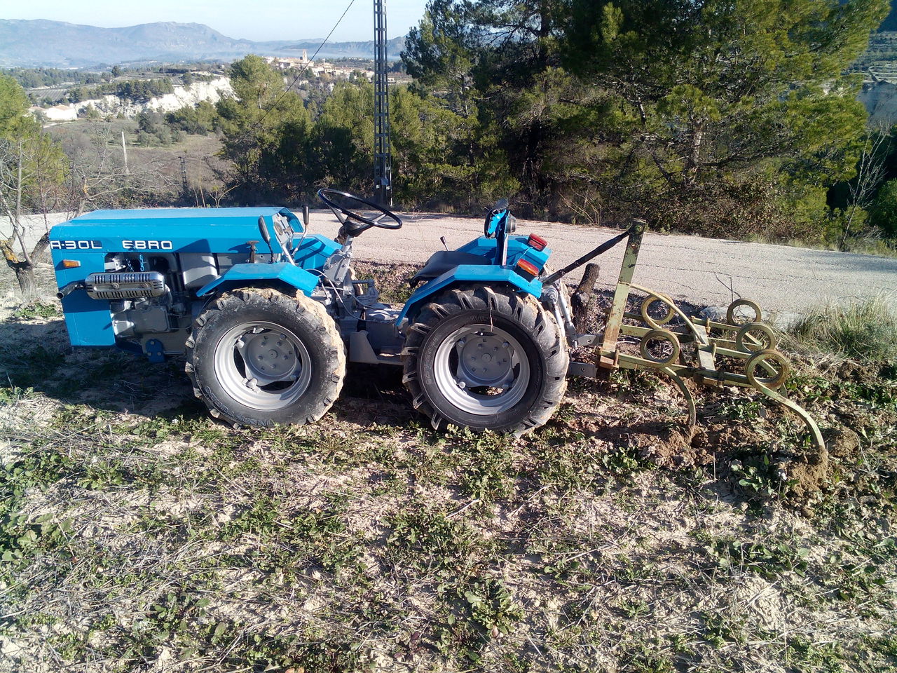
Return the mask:
[[[628,239],[602,334],[575,333],[566,300],[555,286],[557,317],[567,327],[571,345],[597,346],[595,362],[571,362],[570,373],[596,376],[598,369],[634,369],[666,374],[682,391],[692,425],[697,412],[685,379],[705,386],[753,388],[797,414],[813,441],[823,447],[822,433],[813,418],[777,391],[788,378],[788,358],[776,350],[776,333],[762,322],[760,307],[738,299],[729,305],[725,322],[694,318],[685,315],[666,294],[632,283],[643,233],[644,223],[637,222],[629,231],[607,241],[615,244]],[[599,246],[555,274],[554,279],[609,247],[606,243]]]

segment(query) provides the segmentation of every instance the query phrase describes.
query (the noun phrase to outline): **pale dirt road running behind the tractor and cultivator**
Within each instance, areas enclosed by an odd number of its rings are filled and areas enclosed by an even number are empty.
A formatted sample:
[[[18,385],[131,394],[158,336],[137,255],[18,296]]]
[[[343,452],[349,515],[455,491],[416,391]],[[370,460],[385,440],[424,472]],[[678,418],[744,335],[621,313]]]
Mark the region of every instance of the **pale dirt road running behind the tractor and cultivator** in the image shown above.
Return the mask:
[[[51,217],[51,222],[61,221]],[[480,219],[441,214],[407,214],[398,231],[364,232],[355,242],[356,258],[382,263],[422,263],[442,249],[482,233]],[[335,236],[335,217],[313,211],[311,232]],[[35,219],[34,232],[43,231]],[[0,232],[5,227],[0,223]],[[553,249],[553,267],[562,267],[616,233],[614,230],[570,224],[518,222],[518,233],[536,232]],[[623,247],[598,258],[602,284],[610,287],[619,272]],[[578,278],[578,275],[572,277]],[[641,248],[635,283],[665,292],[677,300],[701,306],[725,306],[737,297],[760,302],[782,317],[823,302],[850,302],[884,293],[897,310],[897,258],[790,248],[698,236],[648,233]]]

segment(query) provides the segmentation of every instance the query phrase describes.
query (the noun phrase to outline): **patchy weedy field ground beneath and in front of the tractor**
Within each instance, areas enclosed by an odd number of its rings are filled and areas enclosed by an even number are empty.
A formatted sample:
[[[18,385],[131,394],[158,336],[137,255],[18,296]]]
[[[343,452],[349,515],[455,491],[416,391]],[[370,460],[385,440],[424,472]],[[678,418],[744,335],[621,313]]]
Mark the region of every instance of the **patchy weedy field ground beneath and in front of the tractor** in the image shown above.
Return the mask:
[[[519,440],[433,432],[397,376],[235,430],[178,363],[70,352],[46,312],[0,321],[25,335],[0,353],[4,673],[897,670],[878,363],[798,368],[856,441],[796,498],[793,421],[743,392],[701,392],[700,446],[625,372]]]

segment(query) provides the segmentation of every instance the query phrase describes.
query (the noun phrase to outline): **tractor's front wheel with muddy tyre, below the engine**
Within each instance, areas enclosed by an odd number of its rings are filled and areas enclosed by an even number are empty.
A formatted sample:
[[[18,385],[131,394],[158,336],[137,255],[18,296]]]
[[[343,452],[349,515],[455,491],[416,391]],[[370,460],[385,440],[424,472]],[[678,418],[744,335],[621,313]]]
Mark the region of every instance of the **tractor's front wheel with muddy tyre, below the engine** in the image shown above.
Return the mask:
[[[274,289],[224,293],[187,338],[193,391],[235,426],[306,424],[343,388],[345,350],[324,306]]]

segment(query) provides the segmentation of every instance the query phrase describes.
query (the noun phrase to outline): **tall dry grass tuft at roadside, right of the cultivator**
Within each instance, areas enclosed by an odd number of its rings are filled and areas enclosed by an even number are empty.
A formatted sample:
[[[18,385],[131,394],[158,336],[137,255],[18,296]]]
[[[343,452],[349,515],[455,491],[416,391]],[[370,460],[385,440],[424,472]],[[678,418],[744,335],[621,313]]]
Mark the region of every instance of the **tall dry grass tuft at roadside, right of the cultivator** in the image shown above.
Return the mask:
[[[879,295],[809,310],[788,329],[797,347],[867,362],[897,359],[897,313]]]

